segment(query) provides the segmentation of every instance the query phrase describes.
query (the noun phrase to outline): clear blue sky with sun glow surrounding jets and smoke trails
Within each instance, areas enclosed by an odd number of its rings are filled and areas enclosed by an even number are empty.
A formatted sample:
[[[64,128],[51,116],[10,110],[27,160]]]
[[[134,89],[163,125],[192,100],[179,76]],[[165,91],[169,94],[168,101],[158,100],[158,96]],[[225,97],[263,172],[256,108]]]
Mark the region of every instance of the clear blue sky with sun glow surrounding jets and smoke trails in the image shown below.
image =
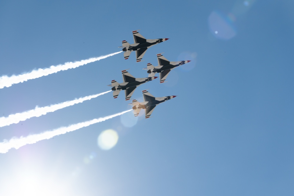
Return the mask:
[[[294,195],[294,2],[0,1],[0,76],[118,52],[132,31],[169,38],[136,63],[117,54],[0,89],[0,117],[110,90],[121,71],[192,60],[139,86],[177,95],[0,154],[0,195]],[[158,76],[158,75],[157,75]],[[112,93],[0,128],[0,141],[131,109]],[[108,150],[97,144],[117,133]],[[112,133],[113,133],[112,132]]]

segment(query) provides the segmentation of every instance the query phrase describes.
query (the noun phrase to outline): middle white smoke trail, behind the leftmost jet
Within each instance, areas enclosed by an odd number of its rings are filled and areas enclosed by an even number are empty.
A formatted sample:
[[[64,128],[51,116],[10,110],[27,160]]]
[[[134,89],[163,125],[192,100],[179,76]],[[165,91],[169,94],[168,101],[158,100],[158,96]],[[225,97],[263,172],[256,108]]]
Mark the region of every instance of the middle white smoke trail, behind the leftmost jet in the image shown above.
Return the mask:
[[[11,114],[8,117],[1,117],[0,118],[0,127],[8,126],[8,125],[11,125],[14,123],[19,123],[20,121],[25,121],[25,120],[32,118],[32,117],[39,117],[39,116],[45,115],[48,112],[54,112],[54,111],[57,111],[59,109],[62,109],[62,108],[68,107],[68,106],[73,106],[74,104],[82,103],[86,100],[96,98],[100,95],[104,95],[106,93],[109,93],[110,91],[111,90],[106,91],[104,93],[99,93],[96,95],[81,97],[79,99],[74,99],[72,101],[65,101],[65,102],[54,104],[51,106],[45,106],[45,107],[41,107],[41,108],[36,106],[36,108],[33,110],[29,110],[29,111],[22,112],[22,113]]]

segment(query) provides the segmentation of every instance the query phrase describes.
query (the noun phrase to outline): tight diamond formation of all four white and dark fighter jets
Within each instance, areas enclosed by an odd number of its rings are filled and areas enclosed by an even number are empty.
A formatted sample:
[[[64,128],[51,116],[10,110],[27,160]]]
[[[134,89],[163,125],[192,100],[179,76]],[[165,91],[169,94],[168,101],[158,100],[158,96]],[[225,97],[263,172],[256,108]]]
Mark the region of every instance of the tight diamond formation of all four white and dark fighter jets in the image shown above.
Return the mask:
[[[168,38],[146,39],[141,34],[139,34],[137,30],[133,31],[132,33],[134,37],[134,44],[129,44],[126,40],[124,40],[122,41],[122,46],[120,46],[120,48],[122,48],[122,51],[124,52],[124,59],[128,59],[131,52],[136,51],[136,62],[140,62],[142,60],[148,48],[168,40]],[[117,81],[112,80],[111,84],[107,85],[112,87],[111,90],[113,91],[113,98],[117,98],[119,92],[124,90],[125,100],[127,101],[132,97],[132,94],[134,93],[137,86],[158,78],[155,77],[156,73],[159,73],[160,83],[164,83],[171,70],[190,62],[190,60],[169,61],[162,55],[162,53],[157,54],[157,61],[158,66],[153,66],[151,63],[148,63],[147,68],[143,68],[143,70],[147,70],[147,78],[135,78],[129,72],[127,72],[127,70],[122,70],[123,82],[118,83]],[[129,103],[129,105],[133,106],[132,109],[134,116],[138,116],[140,110],[144,109],[145,118],[149,118],[151,116],[152,112],[158,104],[176,97],[175,95],[154,97],[147,90],[143,90],[142,93],[144,98],[143,102],[140,103],[134,99],[132,103]]]

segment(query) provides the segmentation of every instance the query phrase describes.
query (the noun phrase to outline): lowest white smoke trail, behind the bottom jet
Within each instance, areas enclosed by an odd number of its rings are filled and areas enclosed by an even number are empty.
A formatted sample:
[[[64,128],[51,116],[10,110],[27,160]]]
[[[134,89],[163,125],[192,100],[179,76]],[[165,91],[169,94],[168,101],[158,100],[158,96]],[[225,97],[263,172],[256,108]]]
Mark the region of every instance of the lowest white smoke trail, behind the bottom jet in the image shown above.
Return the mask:
[[[50,139],[54,136],[58,136],[61,134],[66,134],[68,132],[71,131],[75,131],[77,129],[81,129],[83,127],[87,127],[89,125],[95,124],[95,123],[100,123],[102,121],[106,121],[110,118],[114,118],[116,116],[120,116],[124,113],[127,113],[129,111],[132,111],[132,109],[127,110],[127,111],[123,111],[120,113],[116,113],[110,116],[105,116],[105,117],[101,117],[101,118],[95,118],[93,120],[90,121],[85,121],[82,123],[77,123],[77,124],[72,124],[70,126],[67,127],[60,127],[58,129],[54,129],[51,131],[45,131],[43,133],[40,134],[33,134],[33,135],[29,135],[26,137],[21,136],[20,138],[11,138],[9,141],[8,140],[4,140],[3,142],[0,143],[0,153],[6,153],[9,151],[9,149],[11,148],[15,148],[15,149],[19,149],[21,146],[25,146],[26,144],[34,144],[37,141],[41,141],[44,139]]]

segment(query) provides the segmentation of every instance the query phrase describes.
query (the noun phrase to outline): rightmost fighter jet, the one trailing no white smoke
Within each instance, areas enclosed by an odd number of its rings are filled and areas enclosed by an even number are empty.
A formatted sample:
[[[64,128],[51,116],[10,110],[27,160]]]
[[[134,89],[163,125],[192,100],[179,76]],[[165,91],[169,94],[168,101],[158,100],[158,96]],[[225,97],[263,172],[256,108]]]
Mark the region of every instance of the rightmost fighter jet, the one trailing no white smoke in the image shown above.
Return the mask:
[[[159,73],[160,75],[160,83],[164,83],[167,75],[170,73],[170,70],[175,69],[180,65],[184,65],[185,63],[190,62],[189,60],[184,61],[168,61],[162,54],[157,54],[158,66],[154,67],[151,63],[147,64],[147,68],[144,70],[148,70],[149,77],[155,75],[155,73]]]

